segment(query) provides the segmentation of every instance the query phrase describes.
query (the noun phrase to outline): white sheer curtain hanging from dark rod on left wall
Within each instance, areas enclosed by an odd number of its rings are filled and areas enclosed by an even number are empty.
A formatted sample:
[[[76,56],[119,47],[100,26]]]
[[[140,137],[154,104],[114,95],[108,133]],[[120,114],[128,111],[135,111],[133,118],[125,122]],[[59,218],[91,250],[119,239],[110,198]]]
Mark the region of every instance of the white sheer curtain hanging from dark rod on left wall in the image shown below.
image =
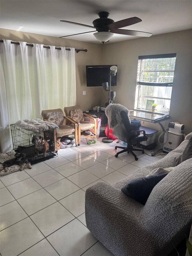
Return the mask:
[[[11,150],[10,130],[4,127],[20,119],[41,118],[41,110],[76,105],[75,49],[49,47],[5,39],[0,43],[1,152]]]

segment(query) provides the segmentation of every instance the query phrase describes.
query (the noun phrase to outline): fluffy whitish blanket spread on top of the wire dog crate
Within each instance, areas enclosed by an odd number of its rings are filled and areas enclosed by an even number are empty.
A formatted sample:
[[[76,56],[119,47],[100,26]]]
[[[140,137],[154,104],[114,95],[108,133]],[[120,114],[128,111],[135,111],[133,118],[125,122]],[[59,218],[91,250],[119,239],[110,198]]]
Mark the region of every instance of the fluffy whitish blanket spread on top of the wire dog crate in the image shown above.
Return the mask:
[[[55,123],[43,121],[39,118],[19,120],[15,123],[15,125],[18,127],[23,127],[26,130],[33,131],[34,133],[38,131],[47,131],[49,129],[58,128]]]

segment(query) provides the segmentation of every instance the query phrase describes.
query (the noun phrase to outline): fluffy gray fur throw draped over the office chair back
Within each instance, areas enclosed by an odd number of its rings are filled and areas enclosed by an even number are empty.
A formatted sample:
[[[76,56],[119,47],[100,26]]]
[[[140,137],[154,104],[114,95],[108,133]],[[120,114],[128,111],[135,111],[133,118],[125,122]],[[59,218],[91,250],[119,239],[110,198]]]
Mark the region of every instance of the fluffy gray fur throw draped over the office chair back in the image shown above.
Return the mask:
[[[129,110],[122,106],[121,104],[109,104],[106,107],[105,114],[109,121],[110,128],[113,128],[116,125],[119,125],[122,122],[121,112],[125,111],[128,115],[128,119],[131,123],[129,118]]]

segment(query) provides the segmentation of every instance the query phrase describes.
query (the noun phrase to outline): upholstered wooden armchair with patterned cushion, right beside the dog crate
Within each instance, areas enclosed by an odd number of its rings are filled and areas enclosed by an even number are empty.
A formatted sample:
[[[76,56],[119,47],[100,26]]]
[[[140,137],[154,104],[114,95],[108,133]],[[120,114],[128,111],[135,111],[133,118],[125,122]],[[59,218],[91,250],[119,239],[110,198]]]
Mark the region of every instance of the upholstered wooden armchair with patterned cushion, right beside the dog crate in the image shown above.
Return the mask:
[[[59,128],[56,129],[57,137],[67,136],[69,134],[75,135],[75,146],[78,145],[78,125],[73,120],[69,119],[67,116],[64,116],[63,110],[58,109],[49,109],[42,110],[41,115],[44,121],[55,123]],[[70,124],[66,125],[66,120],[70,120]]]

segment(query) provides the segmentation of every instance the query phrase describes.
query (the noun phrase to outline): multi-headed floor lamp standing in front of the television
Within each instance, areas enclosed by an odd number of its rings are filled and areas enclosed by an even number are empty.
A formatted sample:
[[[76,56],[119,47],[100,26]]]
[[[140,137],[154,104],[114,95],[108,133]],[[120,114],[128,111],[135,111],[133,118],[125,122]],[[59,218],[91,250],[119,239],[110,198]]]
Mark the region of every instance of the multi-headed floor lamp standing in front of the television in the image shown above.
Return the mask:
[[[109,94],[108,94],[108,104],[112,103],[112,100],[114,100],[114,98],[116,96],[116,92],[111,91],[112,76],[116,76],[116,73],[117,73],[117,66],[111,66],[110,67],[110,83],[108,83],[108,82],[102,83],[103,89],[106,92],[107,91],[109,92]],[[112,143],[113,140],[110,139],[108,136],[109,136],[109,121],[107,120],[107,138],[103,138],[102,142]]]

